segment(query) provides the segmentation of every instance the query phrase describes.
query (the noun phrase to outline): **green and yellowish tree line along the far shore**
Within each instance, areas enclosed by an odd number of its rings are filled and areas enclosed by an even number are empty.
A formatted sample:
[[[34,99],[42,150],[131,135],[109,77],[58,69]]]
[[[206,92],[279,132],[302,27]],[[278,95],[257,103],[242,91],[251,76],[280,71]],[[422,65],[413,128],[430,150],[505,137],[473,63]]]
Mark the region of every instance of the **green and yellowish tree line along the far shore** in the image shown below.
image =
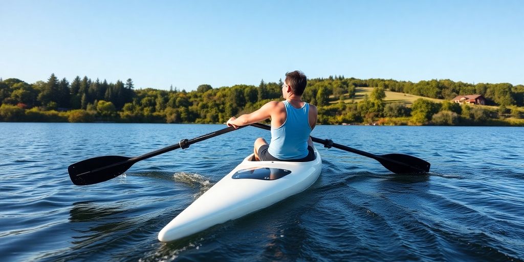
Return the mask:
[[[108,83],[76,77],[69,82],[65,78],[59,80],[54,74],[47,82],[32,84],[14,78],[0,79],[0,121],[224,123],[231,116],[252,112],[268,101],[282,99],[281,85],[282,80],[262,80],[258,86],[239,84],[221,88],[202,84],[187,92],[172,87],[170,90],[135,89],[132,79]],[[374,89],[364,100],[354,102],[359,87]],[[482,94],[489,104],[499,108],[489,110],[423,99],[407,107],[385,103],[386,90],[446,100],[456,95]],[[524,104],[524,86],[451,80],[412,83],[335,75],[308,80],[303,99],[319,107],[321,124],[500,125],[508,124],[500,122],[501,119],[522,117],[519,106]]]

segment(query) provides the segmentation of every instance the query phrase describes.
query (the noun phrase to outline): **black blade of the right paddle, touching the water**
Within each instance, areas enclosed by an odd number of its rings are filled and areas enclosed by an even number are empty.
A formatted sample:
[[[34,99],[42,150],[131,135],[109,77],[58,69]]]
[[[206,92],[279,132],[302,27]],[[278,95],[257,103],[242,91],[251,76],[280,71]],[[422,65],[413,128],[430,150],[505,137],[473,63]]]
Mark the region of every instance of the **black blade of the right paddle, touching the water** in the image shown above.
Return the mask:
[[[385,168],[397,174],[429,172],[431,164],[417,157],[387,154],[376,158]]]

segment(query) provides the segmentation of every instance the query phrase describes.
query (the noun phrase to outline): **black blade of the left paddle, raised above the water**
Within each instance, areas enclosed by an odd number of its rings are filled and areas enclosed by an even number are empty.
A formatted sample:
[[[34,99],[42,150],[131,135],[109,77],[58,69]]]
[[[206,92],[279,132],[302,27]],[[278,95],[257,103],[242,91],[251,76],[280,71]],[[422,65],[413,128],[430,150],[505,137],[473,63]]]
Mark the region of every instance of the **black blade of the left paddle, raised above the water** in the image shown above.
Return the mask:
[[[86,159],[69,166],[69,177],[75,185],[96,184],[123,174],[135,161],[132,157],[104,156]]]

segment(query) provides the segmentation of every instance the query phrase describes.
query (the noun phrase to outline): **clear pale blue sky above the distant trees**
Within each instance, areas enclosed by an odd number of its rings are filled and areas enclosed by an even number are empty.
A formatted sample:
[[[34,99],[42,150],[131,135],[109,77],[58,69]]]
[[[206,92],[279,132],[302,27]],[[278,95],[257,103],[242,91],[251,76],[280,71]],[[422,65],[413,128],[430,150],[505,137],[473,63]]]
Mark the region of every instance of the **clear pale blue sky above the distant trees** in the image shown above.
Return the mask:
[[[524,1],[0,0],[0,77],[194,90],[309,78],[524,84]]]

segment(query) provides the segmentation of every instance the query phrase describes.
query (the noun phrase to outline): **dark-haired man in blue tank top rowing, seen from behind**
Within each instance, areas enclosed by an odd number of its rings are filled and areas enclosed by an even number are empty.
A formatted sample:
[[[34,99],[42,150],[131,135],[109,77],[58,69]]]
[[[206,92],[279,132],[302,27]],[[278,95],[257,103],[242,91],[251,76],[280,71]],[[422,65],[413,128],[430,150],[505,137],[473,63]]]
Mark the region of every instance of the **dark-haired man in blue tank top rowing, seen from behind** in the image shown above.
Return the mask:
[[[271,119],[271,142],[255,140],[257,161],[312,161],[315,158],[310,134],[316,125],[316,106],[302,101],[307,78],[301,71],[286,73],[282,84],[284,101],[271,101],[257,111],[231,117],[226,125],[238,128]]]

